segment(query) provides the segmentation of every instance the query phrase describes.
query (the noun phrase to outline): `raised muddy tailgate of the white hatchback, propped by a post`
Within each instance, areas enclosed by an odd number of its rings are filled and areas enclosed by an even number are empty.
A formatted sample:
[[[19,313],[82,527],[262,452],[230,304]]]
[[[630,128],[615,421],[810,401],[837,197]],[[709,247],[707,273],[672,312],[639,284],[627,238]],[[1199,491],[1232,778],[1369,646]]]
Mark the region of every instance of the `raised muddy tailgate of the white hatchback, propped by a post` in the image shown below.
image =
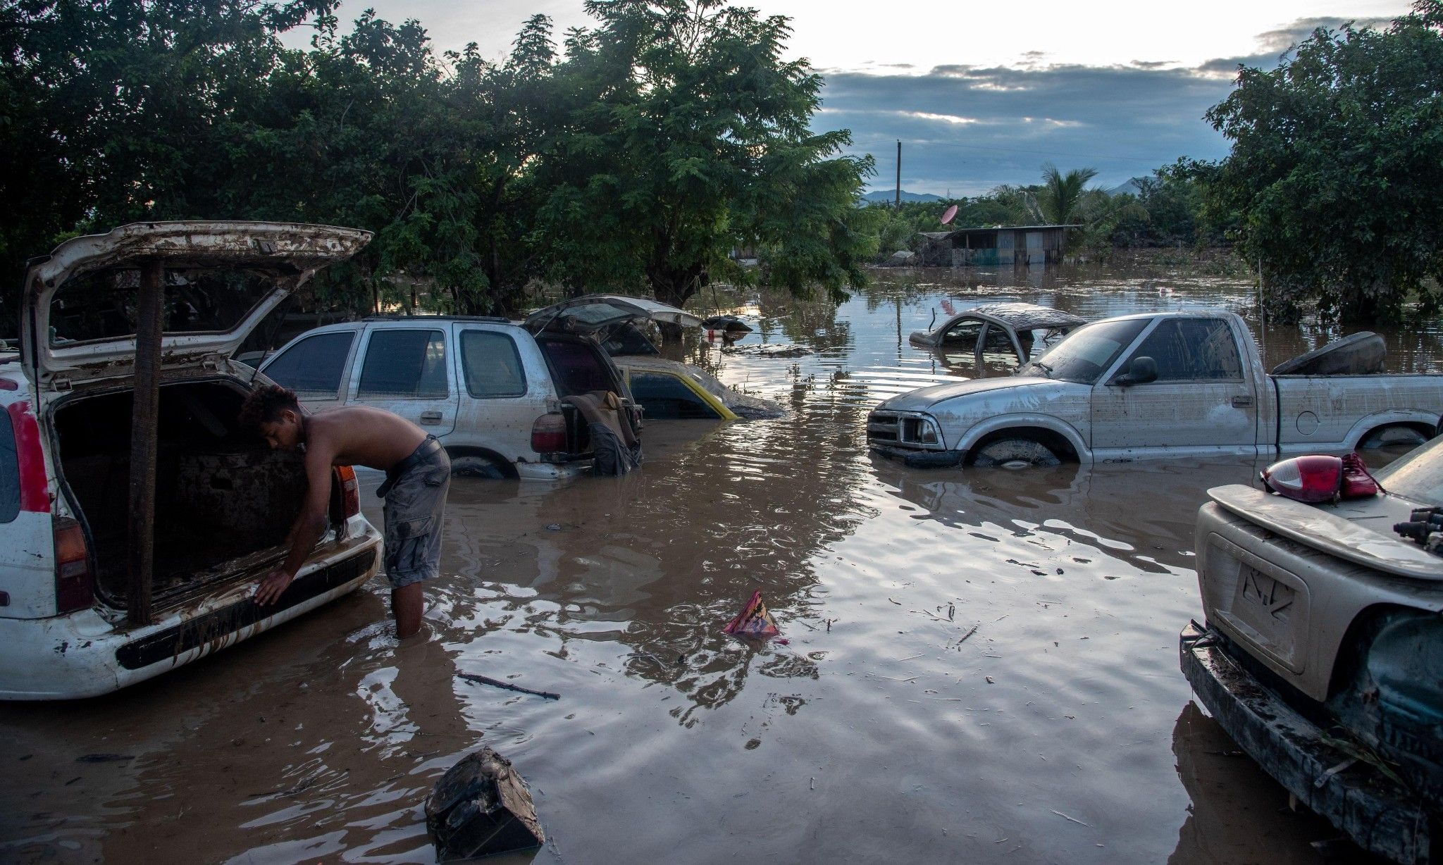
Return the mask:
[[[127,327],[141,262],[166,267],[167,314],[175,321],[176,296],[206,293],[224,310],[214,329],[167,330],[162,334],[162,369],[218,365],[260,321],[319,268],[345,261],[371,239],[371,232],[294,222],[137,222],[104,235],[65,241],[35,260],[25,280],[22,355],[42,386],[134,373],[136,336]],[[186,274],[221,274],[188,283]],[[234,275],[235,280],[225,277]],[[134,284],[136,288],[127,288]],[[240,285],[244,284],[244,296]],[[234,291],[232,291],[234,288]],[[56,307],[56,294],[65,293]],[[231,297],[225,297],[227,293]],[[104,296],[104,310],[87,310]],[[185,303],[189,303],[188,300]],[[72,310],[78,310],[74,311]],[[198,313],[199,314],[199,313]],[[79,339],[61,330],[71,320],[110,317]],[[201,324],[205,327],[206,324]],[[169,327],[169,326],[167,326]],[[130,333],[121,333],[123,330]],[[85,330],[81,327],[81,330]]]

